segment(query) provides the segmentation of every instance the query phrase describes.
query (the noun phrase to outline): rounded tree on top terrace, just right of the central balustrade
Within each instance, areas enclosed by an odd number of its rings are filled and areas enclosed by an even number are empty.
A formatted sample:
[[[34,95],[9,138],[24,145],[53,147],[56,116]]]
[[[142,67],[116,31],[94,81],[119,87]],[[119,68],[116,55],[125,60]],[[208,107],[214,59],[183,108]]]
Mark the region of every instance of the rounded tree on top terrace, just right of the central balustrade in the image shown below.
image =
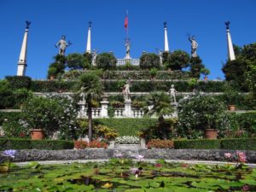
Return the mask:
[[[160,68],[160,57],[154,53],[143,54],[140,58],[142,69]]]

